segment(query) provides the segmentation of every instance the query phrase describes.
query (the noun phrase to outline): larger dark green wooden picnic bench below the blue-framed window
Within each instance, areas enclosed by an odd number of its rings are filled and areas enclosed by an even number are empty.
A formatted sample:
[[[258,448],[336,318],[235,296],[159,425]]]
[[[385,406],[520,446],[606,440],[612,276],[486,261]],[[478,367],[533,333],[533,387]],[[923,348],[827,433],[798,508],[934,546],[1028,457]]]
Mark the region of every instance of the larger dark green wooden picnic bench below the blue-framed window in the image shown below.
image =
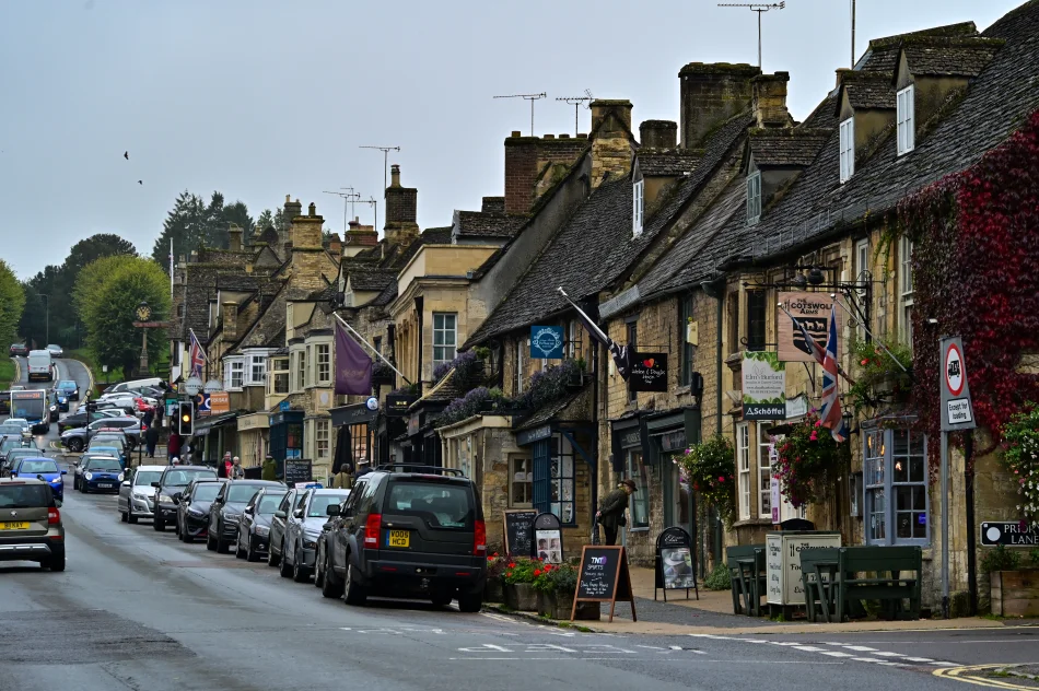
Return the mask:
[[[876,600],[887,619],[920,619],[919,547],[826,547],[801,552],[808,618],[843,621]],[[908,574],[908,575],[903,575]],[[908,609],[903,601],[909,601]]]

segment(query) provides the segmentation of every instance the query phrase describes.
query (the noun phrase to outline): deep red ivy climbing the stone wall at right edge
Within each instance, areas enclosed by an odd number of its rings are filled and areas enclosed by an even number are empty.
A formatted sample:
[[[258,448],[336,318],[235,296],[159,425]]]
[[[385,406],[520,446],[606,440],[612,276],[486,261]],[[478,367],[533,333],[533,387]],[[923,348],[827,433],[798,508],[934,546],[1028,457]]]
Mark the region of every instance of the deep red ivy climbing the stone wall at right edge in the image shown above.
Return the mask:
[[[1011,415],[1039,401],[1039,378],[1017,371],[1023,353],[1039,353],[1039,112],[970,168],[899,203],[898,226],[913,241],[918,424],[937,438],[938,339],[959,335],[974,415],[999,443]],[[929,447],[934,472],[939,446]]]

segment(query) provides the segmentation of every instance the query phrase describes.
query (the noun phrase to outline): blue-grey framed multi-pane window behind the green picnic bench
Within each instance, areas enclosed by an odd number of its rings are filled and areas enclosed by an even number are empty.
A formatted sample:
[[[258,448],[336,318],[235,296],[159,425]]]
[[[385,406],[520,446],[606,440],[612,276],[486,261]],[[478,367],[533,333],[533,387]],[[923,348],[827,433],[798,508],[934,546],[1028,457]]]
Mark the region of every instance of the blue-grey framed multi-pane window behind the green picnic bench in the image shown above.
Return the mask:
[[[869,544],[930,542],[926,437],[911,430],[864,435],[865,537]]]

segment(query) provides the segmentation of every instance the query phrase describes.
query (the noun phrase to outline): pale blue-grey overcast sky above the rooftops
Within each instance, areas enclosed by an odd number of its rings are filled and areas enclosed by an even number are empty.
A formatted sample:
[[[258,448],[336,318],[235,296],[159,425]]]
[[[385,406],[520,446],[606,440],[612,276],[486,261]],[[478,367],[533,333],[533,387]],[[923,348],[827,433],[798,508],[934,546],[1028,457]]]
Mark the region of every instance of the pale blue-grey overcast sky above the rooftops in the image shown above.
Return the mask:
[[[857,0],[869,38],[1024,0]],[[801,120],[851,62],[849,0],[763,15],[766,72]],[[501,196],[504,138],[573,133],[589,90],[635,124],[678,120],[687,62],[757,62],[756,15],[705,0],[0,0],[0,258],[21,279],[95,233],[151,254],[177,195],[223,192],[255,218],[311,202],[342,232],[352,187],[378,200],[383,153],[419,190],[419,225]],[[580,110],[582,132],[589,112]],[[637,125],[635,125],[637,127]],[[129,152],[129,161],[122,156]],[[138,184],[141,180],[142,184]],[[371,223],[371,204],[355,214]]]

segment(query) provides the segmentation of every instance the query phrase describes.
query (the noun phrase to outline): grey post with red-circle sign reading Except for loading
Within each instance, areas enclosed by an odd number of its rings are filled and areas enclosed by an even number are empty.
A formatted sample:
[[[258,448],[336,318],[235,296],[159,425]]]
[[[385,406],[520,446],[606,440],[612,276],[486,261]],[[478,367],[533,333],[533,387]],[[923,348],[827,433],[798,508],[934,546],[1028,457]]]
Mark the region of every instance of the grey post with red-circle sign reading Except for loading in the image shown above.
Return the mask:
[[[938,388],[942,391],[942,614],[949,618],[949,432],[973,430],[974,410],[967,386],[964,342],[958,336],[941,342]]]

